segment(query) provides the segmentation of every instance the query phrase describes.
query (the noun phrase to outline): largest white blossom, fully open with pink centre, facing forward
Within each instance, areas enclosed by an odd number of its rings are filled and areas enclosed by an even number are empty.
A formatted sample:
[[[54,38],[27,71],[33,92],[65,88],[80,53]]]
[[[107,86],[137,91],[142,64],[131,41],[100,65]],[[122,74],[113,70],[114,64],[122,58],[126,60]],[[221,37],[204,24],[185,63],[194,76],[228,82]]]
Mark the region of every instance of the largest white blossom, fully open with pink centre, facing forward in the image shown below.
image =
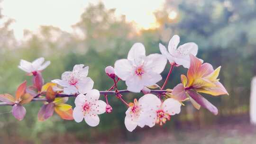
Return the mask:
[[[143,87],[162,80],[160,73],[164,71],[166,63],[162,54],[146,56],[144,45],[136,43],[131,47],[127,59],[116,61],[114,69],[115,74],[126,82],[129,91],[140,92]]]

